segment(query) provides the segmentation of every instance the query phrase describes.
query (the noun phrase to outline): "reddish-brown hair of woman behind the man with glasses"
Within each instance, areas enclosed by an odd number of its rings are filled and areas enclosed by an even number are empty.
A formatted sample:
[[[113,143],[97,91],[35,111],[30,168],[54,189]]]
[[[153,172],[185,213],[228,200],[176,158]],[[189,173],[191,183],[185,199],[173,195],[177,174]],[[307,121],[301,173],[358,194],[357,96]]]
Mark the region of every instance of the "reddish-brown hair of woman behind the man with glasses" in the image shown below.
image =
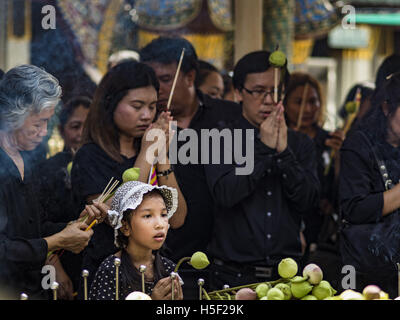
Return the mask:
[[[321,108],[318,115],[318,125],[322,126],[325,120],[325,112],[323,108],[321,86],[319,85],[317,79],[312,77],[310,74],[304,72],[293,72],[290,74],[290,81],[285,90],[285,99],[283,100],[283,104],[287,104],[290,95],[296,90],[296,88],[304,86],[306,83],[308,83],[312,88],[315,89],[315,91],[317,91],[318,99],[321,103]]]

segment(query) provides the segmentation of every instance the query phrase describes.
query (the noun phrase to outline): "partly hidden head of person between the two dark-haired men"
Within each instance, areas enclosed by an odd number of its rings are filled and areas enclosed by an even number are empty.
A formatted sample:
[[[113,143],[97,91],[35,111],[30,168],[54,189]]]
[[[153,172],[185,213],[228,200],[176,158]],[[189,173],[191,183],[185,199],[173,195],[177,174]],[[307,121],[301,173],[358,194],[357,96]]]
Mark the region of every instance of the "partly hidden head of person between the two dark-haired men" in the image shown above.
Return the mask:
[[[199,60],[199,73],[196,76],[195,86],[211,98],[222,99],[224,80],[218,69],[207,61]]]

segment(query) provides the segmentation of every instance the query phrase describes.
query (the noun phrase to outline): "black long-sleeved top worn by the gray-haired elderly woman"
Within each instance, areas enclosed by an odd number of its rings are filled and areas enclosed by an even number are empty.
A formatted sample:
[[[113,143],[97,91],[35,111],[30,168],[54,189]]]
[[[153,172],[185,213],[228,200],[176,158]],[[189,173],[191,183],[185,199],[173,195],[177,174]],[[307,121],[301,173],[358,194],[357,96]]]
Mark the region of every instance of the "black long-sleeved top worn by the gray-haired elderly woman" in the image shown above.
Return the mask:
[[[37,179],[32,152],[21,152],[24,180],[11,158],[0,149],[0,290],[6,298],[43,299],[42,267],[47,257],[44,237],[61,231],[65,223],[44,220],[37,195]]]

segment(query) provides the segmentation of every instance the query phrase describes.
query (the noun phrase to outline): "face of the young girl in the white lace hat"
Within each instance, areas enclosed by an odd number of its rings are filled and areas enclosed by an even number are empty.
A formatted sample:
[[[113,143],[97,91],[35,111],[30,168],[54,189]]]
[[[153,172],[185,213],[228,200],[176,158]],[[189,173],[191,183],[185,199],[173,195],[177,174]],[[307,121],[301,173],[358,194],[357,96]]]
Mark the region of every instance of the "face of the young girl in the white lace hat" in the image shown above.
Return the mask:
[[[149,194],[134,211],[126,236],[129,245],[158,250],[168,232],[168,214],[164,199],[159,194]]]

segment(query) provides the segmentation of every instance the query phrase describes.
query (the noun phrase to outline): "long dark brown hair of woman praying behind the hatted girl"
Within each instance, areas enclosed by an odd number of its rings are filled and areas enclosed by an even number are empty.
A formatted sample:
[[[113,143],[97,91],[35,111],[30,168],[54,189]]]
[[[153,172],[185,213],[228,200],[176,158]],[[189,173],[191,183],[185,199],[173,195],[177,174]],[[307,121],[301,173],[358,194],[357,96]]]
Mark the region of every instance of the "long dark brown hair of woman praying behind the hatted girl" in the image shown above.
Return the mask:
[[[83,144],[94,142],[112,159],[121,163],[119,131],[114,123],[118,103],[131,89],[152,86],[159,90],[159,82],[151,67],[129,61],[111,68],[98,85],[83,130]]]

